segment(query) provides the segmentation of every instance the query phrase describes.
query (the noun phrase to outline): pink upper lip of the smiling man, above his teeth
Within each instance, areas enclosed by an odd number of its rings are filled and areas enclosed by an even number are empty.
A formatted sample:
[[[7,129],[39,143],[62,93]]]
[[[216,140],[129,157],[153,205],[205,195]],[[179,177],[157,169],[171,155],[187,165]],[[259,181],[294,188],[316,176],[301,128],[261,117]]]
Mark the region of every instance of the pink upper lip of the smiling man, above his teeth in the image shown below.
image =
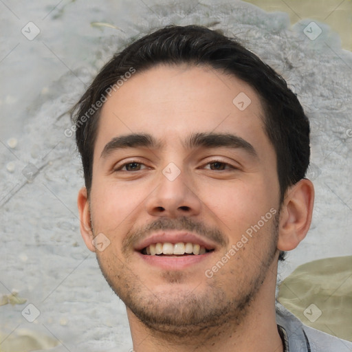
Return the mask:
[[[163,231],[163,232],[156,232],[148,236],[146,239],[137,242],[135,244],[135,250],[141,251],[144,248],[148,247],[148,245],[155,244],[155,243],[192,243],[192,244],[199,244],[206,248],[206,250],[214,250],[216,245],[209,240],[205,240],[201,238],[198,234],[194,234],[192,232],[186,231]]]

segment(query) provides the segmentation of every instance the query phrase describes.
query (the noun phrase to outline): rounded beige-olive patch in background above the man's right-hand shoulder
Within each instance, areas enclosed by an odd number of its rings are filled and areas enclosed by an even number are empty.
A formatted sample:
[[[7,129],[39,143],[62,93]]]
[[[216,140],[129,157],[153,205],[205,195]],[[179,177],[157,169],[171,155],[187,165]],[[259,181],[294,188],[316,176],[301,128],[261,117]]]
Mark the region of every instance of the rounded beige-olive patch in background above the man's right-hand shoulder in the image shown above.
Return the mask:
[[[352,341],[352,256],[300,265],[281,283],[278,301],[303,324]]]

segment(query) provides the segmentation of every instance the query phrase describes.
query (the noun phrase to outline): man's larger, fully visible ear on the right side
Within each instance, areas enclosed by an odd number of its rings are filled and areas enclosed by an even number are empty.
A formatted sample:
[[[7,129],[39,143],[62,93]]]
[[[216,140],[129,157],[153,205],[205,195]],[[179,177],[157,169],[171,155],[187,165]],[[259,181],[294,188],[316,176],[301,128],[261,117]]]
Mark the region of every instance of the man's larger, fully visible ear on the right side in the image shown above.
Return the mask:
[[[314,186],[309,179],[301,179],[286,192],[281,207],[278,250],[294,250],[311,225]]]

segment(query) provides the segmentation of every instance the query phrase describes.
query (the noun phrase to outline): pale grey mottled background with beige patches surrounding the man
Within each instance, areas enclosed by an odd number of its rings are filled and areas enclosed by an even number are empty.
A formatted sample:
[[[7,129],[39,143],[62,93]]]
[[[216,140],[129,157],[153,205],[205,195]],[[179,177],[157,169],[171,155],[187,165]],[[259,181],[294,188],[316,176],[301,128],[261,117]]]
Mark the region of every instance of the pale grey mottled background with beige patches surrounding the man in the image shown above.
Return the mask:
[[[67,111],[114,52],[172,23],[238,36],[298,95],[316,204],[279,267],[280,300],[306,325],[352,339],[351,0],[1,0],[1,352],[132,348],[124,305],[80,237],[83,173]]]

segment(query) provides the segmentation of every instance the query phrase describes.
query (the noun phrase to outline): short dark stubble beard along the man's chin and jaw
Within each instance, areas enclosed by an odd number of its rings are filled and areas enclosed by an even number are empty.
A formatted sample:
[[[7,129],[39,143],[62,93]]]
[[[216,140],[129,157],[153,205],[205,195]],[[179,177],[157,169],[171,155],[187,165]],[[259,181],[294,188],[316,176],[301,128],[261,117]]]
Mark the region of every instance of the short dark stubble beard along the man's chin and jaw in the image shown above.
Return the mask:
[[[242,269],[245,271],[252,266],[252,276],[245,277],[242,274],[239,280],[236,272],[231,272],[232,276],[225,278],[228,285],[236,287],[236,294],[232,298],[229,298],[223,289],[226,284],[224,278],[221,280],[221,270],[212,279],[207,279],[206,289],[203,289],[202,294],[197,292],[196,283],[192,289],[177,289],[177,286],[189,282],[189,279],[182,272],[166,271],[162,274],[162,278],[164,282],[170,284],[170,289],[155,293],[153,287],[147,287],[143,279],[136,276],[126,262],[122,264],[120,259],[116,259],[111,267],[103,263],[99,254],[97,259],[111,289],[124,302],[127,309],[154,333],[190,337],[200,336],[207,329],[215,334],[217,328],[221,329],[225,325],[241,325],[245,320],[250,305],[275,258],[278,217],[279,214],[276,214],[272,221],[272,241],[267,245],[265,252],[261,253],[260,261],[242,263]],[[236,256],[232,261],[235,260]],[[211,329],[212,327],[215,329]]]

